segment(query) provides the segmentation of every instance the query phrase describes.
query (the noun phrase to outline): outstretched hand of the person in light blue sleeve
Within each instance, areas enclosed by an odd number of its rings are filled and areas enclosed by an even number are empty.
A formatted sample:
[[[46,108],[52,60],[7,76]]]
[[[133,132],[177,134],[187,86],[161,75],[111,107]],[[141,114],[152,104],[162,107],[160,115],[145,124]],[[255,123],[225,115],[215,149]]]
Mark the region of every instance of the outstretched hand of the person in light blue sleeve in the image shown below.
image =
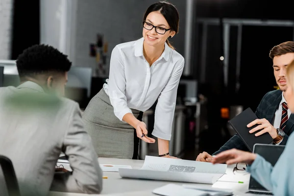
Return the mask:
[[[230,149],[221,152],[216,157],[212,158],[212,163],[226,163],[228,165],[234,163],[246,163],[252,164],[252,162],[256,159],[256,154],[251,152],[245,152],[237,149]]]

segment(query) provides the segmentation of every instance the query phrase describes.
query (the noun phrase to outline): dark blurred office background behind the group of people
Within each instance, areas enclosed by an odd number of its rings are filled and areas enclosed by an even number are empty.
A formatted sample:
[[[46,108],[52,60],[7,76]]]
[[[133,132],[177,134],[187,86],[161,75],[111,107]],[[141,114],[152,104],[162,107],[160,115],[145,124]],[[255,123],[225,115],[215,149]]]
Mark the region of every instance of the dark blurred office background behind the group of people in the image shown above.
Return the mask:
[[[178,88],[171,154],[195,159],[233,134],[227,121],[255,111],[275,89],[270,49],[294,40],[291,1],[169,0],[180,14],[172,38],[185,57]],[[66,97],[83,110],[108,78],[112,49],[142,36],[142,19],[156,0],[0,0],[0,86],[17,86],[15,59],[34,44],[69,56]],[[149,133],[156,103],[144,114]],[[141,158],[157,145],[141,143]]]

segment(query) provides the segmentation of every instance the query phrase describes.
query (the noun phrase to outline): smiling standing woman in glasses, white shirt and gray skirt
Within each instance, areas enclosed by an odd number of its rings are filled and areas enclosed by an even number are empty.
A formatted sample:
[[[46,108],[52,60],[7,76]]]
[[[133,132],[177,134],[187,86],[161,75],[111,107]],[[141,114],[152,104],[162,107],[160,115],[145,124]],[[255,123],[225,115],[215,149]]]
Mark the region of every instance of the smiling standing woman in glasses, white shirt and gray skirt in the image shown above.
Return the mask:
[[[154,3],[144,15],[143,27],[141,39],[112,50],[107,84],[83,114],[100,157],[137,159],[138,138],[155,142],[147,136],[146,124],[141,121],[143,112],[157,99],[152,135],[158,138],[159,156],[171,157],[169,140],[184,68],[184,58],[168,40],[178,32],[178,11],[169,2]]]

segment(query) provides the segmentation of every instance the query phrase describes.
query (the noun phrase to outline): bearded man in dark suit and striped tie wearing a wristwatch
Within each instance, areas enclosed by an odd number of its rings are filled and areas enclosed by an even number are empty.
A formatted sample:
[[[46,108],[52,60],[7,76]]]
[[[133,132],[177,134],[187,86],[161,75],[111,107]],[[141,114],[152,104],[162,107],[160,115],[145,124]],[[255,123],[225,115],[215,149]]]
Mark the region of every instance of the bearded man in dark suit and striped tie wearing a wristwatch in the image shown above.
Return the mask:
[[[284,42],[273,47],[270,50],[270,58],[279,90],[270,91],[262,98],[255,112],[258,119],[249,123],[247,127],[259,124],[251,129],[250,133],[255,132],[255,136],[259,136],[268,132],[273,143],[286,145],[289,135],[294,130],[294,115],[291,115],[284,94],[287,89],[287,65],[294,60],[294,42]],[[240,136],[236,134],[213,155],[232,148],[249,151]],[[211,160],[212,156],[207,152],[200,153],[196,158],[196,161],[211,162]]]

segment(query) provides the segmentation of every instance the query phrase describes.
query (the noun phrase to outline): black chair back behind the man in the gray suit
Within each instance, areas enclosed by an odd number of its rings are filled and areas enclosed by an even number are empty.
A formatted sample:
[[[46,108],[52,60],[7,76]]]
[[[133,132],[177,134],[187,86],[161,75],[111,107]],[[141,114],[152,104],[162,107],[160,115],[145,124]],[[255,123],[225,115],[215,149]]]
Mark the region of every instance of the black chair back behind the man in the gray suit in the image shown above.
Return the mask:
[[[0,166],[2,168],[9,196],[21,196],[11,160],[6,156],[0,155]]]

